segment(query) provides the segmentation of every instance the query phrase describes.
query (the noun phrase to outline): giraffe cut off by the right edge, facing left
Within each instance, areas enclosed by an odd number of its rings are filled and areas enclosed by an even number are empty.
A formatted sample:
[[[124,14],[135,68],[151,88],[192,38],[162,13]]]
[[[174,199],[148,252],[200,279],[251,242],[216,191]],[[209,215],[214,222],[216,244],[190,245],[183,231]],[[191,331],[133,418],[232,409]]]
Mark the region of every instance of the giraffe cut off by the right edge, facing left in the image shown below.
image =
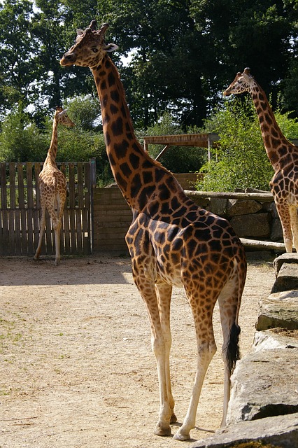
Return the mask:
[[[223,94],[228,97],[242,92],[249,92],[253,98],[264,146],[275,171],[270,188],[283,227],[285,250],[292,252],[294,242],[298,251],[298,148],[281,132],[266,94],[250,75],[250,69],[237,73]]]

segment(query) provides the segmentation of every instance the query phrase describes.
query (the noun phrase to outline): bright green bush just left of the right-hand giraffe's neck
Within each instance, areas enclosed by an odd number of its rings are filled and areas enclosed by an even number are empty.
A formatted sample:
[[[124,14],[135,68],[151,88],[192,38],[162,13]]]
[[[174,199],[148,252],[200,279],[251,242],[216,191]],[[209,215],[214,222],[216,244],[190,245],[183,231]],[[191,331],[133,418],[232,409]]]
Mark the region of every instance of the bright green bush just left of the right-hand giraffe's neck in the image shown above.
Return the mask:
[[[225,109],[216,111],[206,121],[206,132],[220,136],[220,146],[211,161],[201,168],[204,179],[198,190],[233,191],[235,188],[269,190],[273,169],[264,150],[253,102],[236,97],[225,102]]]

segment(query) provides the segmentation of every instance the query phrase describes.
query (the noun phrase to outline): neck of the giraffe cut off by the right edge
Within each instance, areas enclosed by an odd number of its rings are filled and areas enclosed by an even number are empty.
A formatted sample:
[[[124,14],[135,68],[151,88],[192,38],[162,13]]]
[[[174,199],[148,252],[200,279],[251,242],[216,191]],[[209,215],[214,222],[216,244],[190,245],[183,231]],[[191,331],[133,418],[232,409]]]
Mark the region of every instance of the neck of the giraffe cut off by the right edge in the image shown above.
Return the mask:
[[[250,91],[255,104],[255,109],[257,111],[257,116],[259,118],[262,138],[264,141],[264,146],[267,152],[267,156],[271,162],[274,169],[280,169],[281,155],[284,151],[278,151],[281,146],[288,147],[293,146],[290,141],[288,141],[281,128],[276,122],[276,118],[268,102],[267,96],[256,82],[254,83],[253,90]]]

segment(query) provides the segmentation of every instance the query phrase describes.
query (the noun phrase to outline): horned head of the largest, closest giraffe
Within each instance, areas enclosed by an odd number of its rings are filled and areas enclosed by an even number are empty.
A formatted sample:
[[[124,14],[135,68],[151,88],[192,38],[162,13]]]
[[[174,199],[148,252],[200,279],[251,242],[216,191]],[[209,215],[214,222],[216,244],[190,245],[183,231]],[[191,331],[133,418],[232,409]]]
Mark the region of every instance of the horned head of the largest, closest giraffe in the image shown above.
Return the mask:
[[[106,44],[104,36],[108,29],[108,23],[104,23],[100,29],[97,30],[96,20],[92,20],[90,27],[77,29],[76,43],[67,51],[60,64],[88,66],[90,69],[96,68],[103,59],[106,52],[111,52],[118,49],[118,45],[114,43]]]

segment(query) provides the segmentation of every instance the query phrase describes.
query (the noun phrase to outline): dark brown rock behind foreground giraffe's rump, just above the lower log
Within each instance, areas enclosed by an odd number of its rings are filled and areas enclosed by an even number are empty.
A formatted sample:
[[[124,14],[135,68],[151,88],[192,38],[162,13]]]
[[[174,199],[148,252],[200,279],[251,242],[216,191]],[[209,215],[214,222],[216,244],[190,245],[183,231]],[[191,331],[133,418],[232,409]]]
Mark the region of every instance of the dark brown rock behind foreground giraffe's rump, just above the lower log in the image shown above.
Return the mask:
[[[270,236],[268,213],[234,216],[230,223],[239,237],[267,238]]]

